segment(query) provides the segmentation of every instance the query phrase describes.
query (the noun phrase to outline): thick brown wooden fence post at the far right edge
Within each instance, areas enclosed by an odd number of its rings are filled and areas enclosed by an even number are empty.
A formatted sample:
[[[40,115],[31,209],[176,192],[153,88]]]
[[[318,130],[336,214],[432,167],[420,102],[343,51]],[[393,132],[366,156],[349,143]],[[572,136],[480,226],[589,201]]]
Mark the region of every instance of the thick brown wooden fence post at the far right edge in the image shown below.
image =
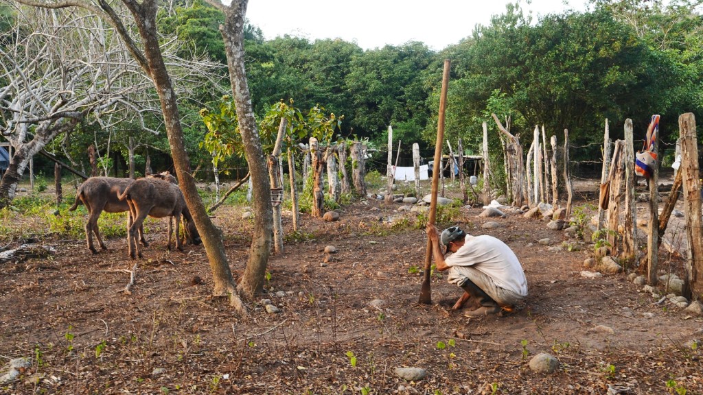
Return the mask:
[[[683,173],[683,201],[686,213],[688,261],[683,296],[700,299],[703,295],[703,234],[701,232],[701,194],[698,169],[696,120],[691,112],[678,117],[681,130],[681,172]]]

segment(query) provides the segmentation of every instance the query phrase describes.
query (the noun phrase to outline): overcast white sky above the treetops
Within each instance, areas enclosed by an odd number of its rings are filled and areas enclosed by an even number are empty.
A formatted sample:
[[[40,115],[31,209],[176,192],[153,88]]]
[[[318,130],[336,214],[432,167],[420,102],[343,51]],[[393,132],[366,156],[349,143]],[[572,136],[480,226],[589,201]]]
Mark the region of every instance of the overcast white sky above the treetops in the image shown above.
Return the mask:
[[[508,0],[250,0],[247,18],[266,39],[283,34],[356,41],[364,49],[422,41],[434,50],[468,37],[477,23],[505,11]],[[514,1],[513,1],[514,2]],[[586,0],[521,1],[524,13],[586,9]]]

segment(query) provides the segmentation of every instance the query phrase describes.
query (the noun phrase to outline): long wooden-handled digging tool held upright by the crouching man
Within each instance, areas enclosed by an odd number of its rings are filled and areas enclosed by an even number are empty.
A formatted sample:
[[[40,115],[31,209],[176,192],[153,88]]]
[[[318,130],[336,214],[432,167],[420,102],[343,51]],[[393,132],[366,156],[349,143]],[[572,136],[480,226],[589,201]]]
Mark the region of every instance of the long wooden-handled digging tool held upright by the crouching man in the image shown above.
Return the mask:
[[[444,73],[441,79],[441,94],[439,96],[439,118],[437,119],[437,142],[434,145],[434,171],[432,171],[432,196],[430,199],[430,213],[427,218],[429,224],[434,225],[437,217],[437,187],[439,186],[439,171],[437,167],[441,160],[441,148],[444,144],[444,112],[446,109],[446,92],[449,89],[449,67],[451,61],[444,59]],[[420,288],[419,302],[423,304],[432,303],[432,292],[430,290],[430,271],[432,270],[432,240],[427,238],[427,252],[425,254],[425,273],[423,286]]]

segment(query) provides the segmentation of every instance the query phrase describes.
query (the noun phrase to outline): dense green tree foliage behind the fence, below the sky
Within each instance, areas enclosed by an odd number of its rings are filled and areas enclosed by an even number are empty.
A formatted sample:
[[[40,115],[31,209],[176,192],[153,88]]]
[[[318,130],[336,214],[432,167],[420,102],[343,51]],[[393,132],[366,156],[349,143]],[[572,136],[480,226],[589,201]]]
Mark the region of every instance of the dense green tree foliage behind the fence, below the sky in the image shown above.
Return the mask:
[[[431,150],[441,66],[449,58],[446,136],[455,142],[462,137],[469,153],[479,153],[482,122],[489,125],[491,146],[500,146],[491,112],[501,119],[510,117],[511,132],[520,134],[523,143],[531,139],[536,124],[544,125],[548,138],[557,135],[560,143],[564,129],[569,129],[574,145],[588,147],[572,153],[574,160],[599,155],[596,143],[605,118],[614,138],[621,137],[625,119],[633,119],[637,139],[650,115],[660,114],[664,143],[672,143],[678,136],[678,115],[694,112],[703,119],[701,2],[673,0],[662,6],[660,1],[593,0],[589,11],[544,15],[537,21],[524,15],[518,4],[509,4],[489,25],[477,26],[470,37],[439,53],[420,42],[363,50],[341,39],[284,36],[267,41],[261,30],[248,25],[246,65],[254,111],[264,122],[271,105],[295,98],[297,108],[325,108],[337,119],[344,116],[335,139],[368,138],[384,146],[391,124],[396,140],[418,142]],[[0,11],[8,15],[6,9]],[[160,30],[176,34],[185,43],[183,53],[202,53],[220,62],[226,77],[218,31],[222,20],[219,11],[196,0],[164,13]],[[194,162],[212,160],[214,148],[203,137],[207,128],[198,112],[206,108],[221,114],[220,98],[228,91],[223,78],[219,86],[181,99],[179,110],[186,119]],[[302,110],[301,117],[309,119],[309,110]],[[153,123],[150,127],[160,128],[159,119]],[[262,127],[271,134],[271,125]],[[106,148],[107,136],[99,127],[88,122],[81,128],[86,136],[73,134],[53,150],[84,160],[80,153],[87,144]],[[113,131],[110,150],[124,156],[126,136],[135,129]],[[142,143],[151,153],[167,146],[165,136]],[[161,162],[167,165],[168,158]],[[242,160],[230,162],[245,166]]]

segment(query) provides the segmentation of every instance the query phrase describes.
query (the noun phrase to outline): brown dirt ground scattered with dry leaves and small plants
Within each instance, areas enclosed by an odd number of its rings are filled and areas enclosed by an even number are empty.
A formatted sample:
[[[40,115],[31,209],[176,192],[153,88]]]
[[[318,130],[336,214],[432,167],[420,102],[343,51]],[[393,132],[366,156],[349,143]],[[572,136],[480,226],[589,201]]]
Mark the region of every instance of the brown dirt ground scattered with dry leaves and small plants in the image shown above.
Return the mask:
[[[595,188],[579,183],[574,207],[595,205]],[[418,304],[427,241],[413,226],[417,214],[398,207],[359,202],[337,222],[304,215],[295,235],[285,216],[285,252],[271,257],[260,298],[280,312],[250,301],[247,318],[211,296],[202,246],[167,252],[165,221],[148,228],[153,243],[132,294],[122,292],[134,264],[124,240],[95,255],[82,238],[37,240],[56,252],[0,264],[0,365],[32,358],[0,393],[703,394],[702,352],[687,344],[703,337],[703,319],[656,304],[628,273],[583,278],[593,245],[545,221],[513,214],[484,231],[480,207],[458,209],[452,221],[515,251],[529,285],[521,309],[467,318],[451,311],[460,290],[436,275],[433,304]],[[223,206],[214,218],[236,273],[252,228],[242,212]],[[323,264],[327,245],[339,252]],[[662,274],[682,267],[660,253]],[[543,352],[559,359],[555,373],[529,368]],[[427,377],[406,382],[398,367]]]

